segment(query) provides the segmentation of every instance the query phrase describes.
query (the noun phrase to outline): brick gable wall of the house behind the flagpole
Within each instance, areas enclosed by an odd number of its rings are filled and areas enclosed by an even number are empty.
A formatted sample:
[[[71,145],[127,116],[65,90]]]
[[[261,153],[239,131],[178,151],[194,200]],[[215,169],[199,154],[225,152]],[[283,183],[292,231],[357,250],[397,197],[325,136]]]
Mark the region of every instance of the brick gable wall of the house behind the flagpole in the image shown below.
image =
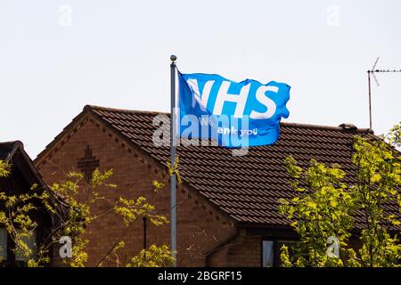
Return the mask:
[[[37,167],[45,181],[47,183],[60,181],[64,178],[64,173],[70,170],[78,171],[78,159],[84,156],[86,146],[89,145],[93,155],[100,160],[100,169],[113,168],[114,175],[110,182],[119,185],[118,190],[102,189],[102,195],[111,200],[119,196],[135,199],[144,195],[169,218],[169,185],[166,185],[159,193],[153,192],[151,187],[153,179],[160,180],[160,175],[163,175],[162,169],[152,159],[131,148],[126,142],[121,142],[114,133],[99,124],[95,118],[87,116],[75,124],[75,129],[71,129],[53,144],[45,156],[37,159]],[[164,176],[166,177],[165,174]],[[180,186],[177,190],[177,203],[178,265],[204,266],[204,254],[232,236],[235,232],[233,225],[199,195],[185,187]],[[96,205],[93,211],[98,214],[106,208],[105,205]],[[89,254],[87,265],[97,265],[125,230],[126,227],[119,216],[112,213],[90,224],[87,228],[88,239],[91,240],[86,248]],[[136,255],[143,248],[142,219],[128,230],[124,240],[126,248],[119,252],[119,260],[123,265],[128,262],[130,256]],[[151,243],[158,245],[169,243],[169,240],[169,225],[155,227],[148,222],[148,246]],[[57,248],[55,252],[58,252]],[[231,255],[232,252],[238,252],[244,257],[247,255],[242,253],[240,248],[232,249],[228,254]],[[233,259],[238,260],[237,265],[241,262],[237,256]],[[248,259],[246,257],[246,260]],[[230,265],[234,263],[230,261]],[[116,264],[105,263],[104,265]],[[215,263],[210,260],[208,265],[215,265]],[[225,264],[218,262],[216,265]]]

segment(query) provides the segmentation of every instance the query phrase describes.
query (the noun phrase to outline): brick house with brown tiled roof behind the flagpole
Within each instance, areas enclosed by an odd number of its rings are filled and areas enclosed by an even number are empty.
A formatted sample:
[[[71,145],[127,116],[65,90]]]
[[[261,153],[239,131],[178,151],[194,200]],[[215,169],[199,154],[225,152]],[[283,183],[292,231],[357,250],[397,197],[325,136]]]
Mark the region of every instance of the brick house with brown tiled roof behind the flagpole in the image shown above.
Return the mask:
[[[47,183],[61,180],[70,170],[82,171],[89,178],[95,167],[113,168],[112,182],[119,185],[121,195],[144,195],[169,216],[169,185],[159,193],[151,191],[153,179],[168,177],[169,147],[152,142],[159,128],[152,121],[158,114],[86,106],[38,155],[37,168]],[[282,123],[278,142],[251,148],[244,156],[216,146],[179,146],[183,183],[177,186],[177,265],[276,265],[280,243],[297,239],[277,213],[277,200],[294,195],[287,184],[284,159],[291,155],[301,166],[310,159],[340,163],[352,173],[356,134],[373,136],[371,130],[352,125]],[[113,191],[103,194],[116,198]],[[94,211],[101,212],[102,206]],[[125,229],[117,222],[118,217],[109,214],[89,226],[88,265],[97,265],[123,234]],[[169,239],[169,226],[138,221],[127,233],[120,259],[125,263],[146,244]]]

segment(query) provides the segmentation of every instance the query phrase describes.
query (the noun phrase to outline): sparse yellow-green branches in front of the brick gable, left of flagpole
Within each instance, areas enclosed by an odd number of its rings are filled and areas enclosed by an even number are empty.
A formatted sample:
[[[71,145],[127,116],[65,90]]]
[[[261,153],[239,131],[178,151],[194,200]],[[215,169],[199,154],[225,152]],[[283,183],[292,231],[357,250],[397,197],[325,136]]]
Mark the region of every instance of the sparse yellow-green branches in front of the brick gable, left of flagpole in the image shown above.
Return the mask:
[[[11,167],[10,164],[0,160],[0,177],[9,175]],[[170,169],[170,173],[172,172],[176,173],[177,170]],[[114,212],[122,217],[127,228],[140,217],[146,217],[151,221],[151,224],[156,226],[168,224],[168,219],[158,214],[156,208],[148,203],[143,196],[137,199],[119,197],[117,201],[104,198],[98,191],[99,187],[117,188],[117,185],[108,183],[111,175],[111,170],[101,172],[96,169],[91,182],[86,185],[81,183],[82,174],[71,172],[64,181],[53,183],[49,189],[40,189],[37,185],[33,185],[27,193],[20,195],[10,196],[6,195],[5,192],[0,192],[0,205],[3,205],[3,208],[0,208],[0,226],[6,229],[9,237],[14,241],[15,248],[13,250],[25,256],[28,266],[45,266],[50,263],[49,252],[53,244],[58,244],[61,237],[69,236],[73,240],[72,257],[64,258],[64,264],[84,266],[88,258],[85,248],[86,244],[90,242],[84,237],[87,226],[94,220]],[[163,186],[164,183],[153,181],[154,191],[160,191]],[[95,203],[100,201],[107,203],[109,207],[104,212],[94,215],[91,209]],[[53,227],[33,255],[27,240],[38,226],[37,221],[32,218],[32,213],[35,211],[50,214],[53,219]],[[98,266],[102,266],[105,260],[110,260],[111,256],[114,257],[116,265],[119,266],[118,251],[124,246],[124,236],[121,236],[116,244],[110,248],[107,255],[102,258]],[[133,256],[127,265],[168,266],[172,264],[172,260],[167,256],[171,256],[167,245],[158,247],[153,244],[148,250]]]

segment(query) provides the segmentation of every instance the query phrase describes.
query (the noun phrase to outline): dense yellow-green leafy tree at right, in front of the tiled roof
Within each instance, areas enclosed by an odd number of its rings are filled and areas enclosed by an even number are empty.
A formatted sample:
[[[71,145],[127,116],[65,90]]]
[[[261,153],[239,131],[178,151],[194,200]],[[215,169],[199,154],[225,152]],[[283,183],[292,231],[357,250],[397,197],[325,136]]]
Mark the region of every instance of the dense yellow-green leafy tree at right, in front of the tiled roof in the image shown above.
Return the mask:
[[[399,266],[401,259],[401,127],[380,138],[356,136],[355,181],[340,165],[286,159],[293,199],[280,199],[299,242],[281,248],[283,266]],[[339,256],[327,241],[338,242]],[[329,254],[328,254],[329,252]]]

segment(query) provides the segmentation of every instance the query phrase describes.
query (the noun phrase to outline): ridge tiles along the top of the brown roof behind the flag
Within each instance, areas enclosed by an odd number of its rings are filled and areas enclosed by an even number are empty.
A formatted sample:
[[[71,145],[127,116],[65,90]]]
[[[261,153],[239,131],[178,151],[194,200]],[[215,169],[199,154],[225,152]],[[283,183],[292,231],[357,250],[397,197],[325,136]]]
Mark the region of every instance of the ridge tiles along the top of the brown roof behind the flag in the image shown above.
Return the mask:
[[[129,114],[145,114],[145,115],[169,115],[168,112],[163,111],[154,111],[154,110],[128,110],[128,109],[118,109],[118,108],[110,108],[110,107],[102,107],[97,105],[86,105],[84,110],[105,110],[105,111],[114,111],[114,112],[123,112]],[[298,128],[313,128],[313,129],[322,129],[329,131],[347,131],[346,128],[342,126],[325,126],[325,125],[314,125],[314,124],[306,124],[306,123],[291,123],[291,122],[281,122],[281,126],[290,126],[290,127],[298,127]],[[355,130],[349,130],[348,132],[352,133],[369,133],[374,134],[373,130],[370,128],[356,128]]]

